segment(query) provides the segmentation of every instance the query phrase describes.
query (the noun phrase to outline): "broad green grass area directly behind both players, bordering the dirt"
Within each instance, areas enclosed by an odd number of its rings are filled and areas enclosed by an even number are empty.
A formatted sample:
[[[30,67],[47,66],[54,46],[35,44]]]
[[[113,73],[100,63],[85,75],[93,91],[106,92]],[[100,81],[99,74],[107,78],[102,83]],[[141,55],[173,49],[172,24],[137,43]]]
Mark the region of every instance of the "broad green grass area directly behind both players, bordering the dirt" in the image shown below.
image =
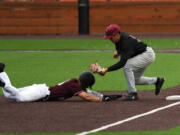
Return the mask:
[[[156,61],[148,67],[145,75],[165,77],[164,88],[179,85],[180,71],[177,69],[177,61],[180,54],[158,53],[156,57]],[[98,60],[103,67],[118,61],[112,59],[110,52],[1,52],[0,58],[6,63],[6,71],[17,87],[33,83],[55,85],[89,70],[89,65],[94,60]],[[104,77],[96,74],[95,77],[94,90],[127,90],[122,70],[110,72]],[[137,89],[154,89],[154,86],[138,86]]]

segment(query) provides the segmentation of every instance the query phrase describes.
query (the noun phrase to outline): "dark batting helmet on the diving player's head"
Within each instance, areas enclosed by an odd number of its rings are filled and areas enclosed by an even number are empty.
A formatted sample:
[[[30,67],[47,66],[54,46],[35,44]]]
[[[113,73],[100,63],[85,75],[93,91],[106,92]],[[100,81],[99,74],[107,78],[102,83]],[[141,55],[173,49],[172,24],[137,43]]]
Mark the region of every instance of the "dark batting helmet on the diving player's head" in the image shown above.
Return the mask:
[[[95,77],[91,72],[82,72],[79,76],[79,80],[81,82],[81,86],[83,89],[86,89],[88,87],[92,87],[95,83]]]

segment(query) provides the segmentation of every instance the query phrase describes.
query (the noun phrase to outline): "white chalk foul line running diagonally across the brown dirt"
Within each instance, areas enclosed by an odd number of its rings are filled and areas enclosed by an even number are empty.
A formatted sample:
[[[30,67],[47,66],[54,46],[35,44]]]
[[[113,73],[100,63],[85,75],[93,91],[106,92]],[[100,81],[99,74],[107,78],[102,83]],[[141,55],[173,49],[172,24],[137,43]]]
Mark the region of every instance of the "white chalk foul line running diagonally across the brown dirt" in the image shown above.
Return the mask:
[[[82,133],[79,133],[79,134],[76,134],[76,135],[87,135],[87,134],[90,134],[90,133],[99,132],[99,131],[105,130],[107,128],[110,128],[110,127],[113,127],[113,126],[117,126],[117,125],[123,124],[125,122],[131,121],[131,120],[143,117],[143,116],[147,116],[147,115],[156,113],[158,111],[161,111],[161,110],[164,110],[164,109],[167,109],[167,108],[179,105],[179,104],[180,104],[180,102],[175,102],[175,103],[169,104],[167,106],[163,106],[163,107],[151,110],[149,112],[142,113],[142,114],[139,114],[139,115],[135,115],[135,116],[132,116],[130,118],[127,118],[127,119],[124,119],[124,120],[121,120],[121,121],[118,121],[118,122],[115,122],[115,123],[112,123],[112,124],[109,124],[109,125],[105,125],[105,126],[102,126],[100,128],[97,128],[97,129],[93,129],[93,130],[90,130],[90,131],[85,131],[85,132],[82,132]]]

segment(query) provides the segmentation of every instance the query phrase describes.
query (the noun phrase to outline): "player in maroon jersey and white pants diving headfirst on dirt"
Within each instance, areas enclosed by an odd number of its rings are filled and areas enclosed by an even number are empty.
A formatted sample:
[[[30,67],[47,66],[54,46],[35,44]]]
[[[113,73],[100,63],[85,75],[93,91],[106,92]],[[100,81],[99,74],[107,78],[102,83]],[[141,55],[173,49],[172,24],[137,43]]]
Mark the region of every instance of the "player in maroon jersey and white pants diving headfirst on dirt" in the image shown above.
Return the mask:
[[[4,96],[17,102],[32,101],[63,101],[72,96],[79,96],[88,101],[111,101],[121,97],[121,95],[103,95],[101,93],[87,90],[95,83],[95,78],[91,72],[83,72],[79,78],[73,78],[58,85],[48,87],[46,84],[33,84],[23,88],[16,88],[6,72],[4,63],[0,63],[0,86]]]

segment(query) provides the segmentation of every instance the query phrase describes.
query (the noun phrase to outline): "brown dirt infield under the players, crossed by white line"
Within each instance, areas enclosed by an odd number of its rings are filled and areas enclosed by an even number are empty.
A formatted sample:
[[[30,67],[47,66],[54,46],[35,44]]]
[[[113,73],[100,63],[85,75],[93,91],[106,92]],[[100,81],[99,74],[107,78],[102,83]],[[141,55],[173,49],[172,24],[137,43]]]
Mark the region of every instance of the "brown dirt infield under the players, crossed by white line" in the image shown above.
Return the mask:
[[[164,89],[158,96],[154,91],[139,91],[140,100],[134,102],[119,99],[95,103],[74,97],[65,102],[16,103],[0,96],[0,133],[88,131],[176,102],[166,101],[165,97],[180,94],[179,90],[180,86]],[[179,112],[177,105],[105,131],[168,130],[180,125]]]

